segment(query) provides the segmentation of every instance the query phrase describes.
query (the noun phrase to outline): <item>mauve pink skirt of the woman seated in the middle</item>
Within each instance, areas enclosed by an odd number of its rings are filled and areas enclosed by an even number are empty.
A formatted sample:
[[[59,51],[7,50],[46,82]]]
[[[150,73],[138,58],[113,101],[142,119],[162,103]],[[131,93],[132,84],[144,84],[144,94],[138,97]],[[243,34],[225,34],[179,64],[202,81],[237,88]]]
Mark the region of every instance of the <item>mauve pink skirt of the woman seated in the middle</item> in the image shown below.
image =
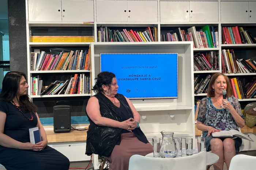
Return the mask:
[[[116,145],[110,157],[107,157],[111,170],[128,170],[132,155],[145,156],[153,152],[150,143],[140,142],[133,132],[121,134],[121,143]]]

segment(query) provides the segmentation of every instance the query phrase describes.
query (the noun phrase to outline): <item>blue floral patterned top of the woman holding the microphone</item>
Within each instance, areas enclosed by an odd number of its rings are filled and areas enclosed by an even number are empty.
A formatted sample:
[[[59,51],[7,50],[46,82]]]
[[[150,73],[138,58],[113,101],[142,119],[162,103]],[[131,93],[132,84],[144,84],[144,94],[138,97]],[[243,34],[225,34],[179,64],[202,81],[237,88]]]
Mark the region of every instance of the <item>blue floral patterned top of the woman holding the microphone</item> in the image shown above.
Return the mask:
[[[237,98],[230,97],[227,99],[234,107],[236,112],[244,119],[240,103]],[[223,116],[224,114],[224,116]],[[223,118],[222,118],[223,116]],[[204,123],[206,126],[215,127],[218,130],[238,130],[237,124],[227,109],[217,109],[213,106],[210,97],[203,98],[199,105],[197,121]]]

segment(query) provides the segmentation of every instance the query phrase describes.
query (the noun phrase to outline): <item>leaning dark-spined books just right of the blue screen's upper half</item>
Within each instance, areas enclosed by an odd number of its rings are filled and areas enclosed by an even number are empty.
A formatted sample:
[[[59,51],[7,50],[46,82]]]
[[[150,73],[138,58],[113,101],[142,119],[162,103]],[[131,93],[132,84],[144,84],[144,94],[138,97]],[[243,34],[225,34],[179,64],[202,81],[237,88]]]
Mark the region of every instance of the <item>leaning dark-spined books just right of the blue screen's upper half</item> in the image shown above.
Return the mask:
[[[219,70],[219,52],[200,52],[194,55],[194,71]]]

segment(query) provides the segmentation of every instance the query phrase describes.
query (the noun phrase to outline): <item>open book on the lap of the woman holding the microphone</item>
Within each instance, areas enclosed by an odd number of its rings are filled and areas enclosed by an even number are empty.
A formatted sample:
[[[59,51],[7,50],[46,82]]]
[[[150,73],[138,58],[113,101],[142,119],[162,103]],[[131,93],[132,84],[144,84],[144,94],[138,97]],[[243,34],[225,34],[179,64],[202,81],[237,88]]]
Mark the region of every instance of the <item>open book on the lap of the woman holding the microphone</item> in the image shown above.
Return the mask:
[[[243,139],[247,139],[249,141],[254,142],[250,137],[248,137],[247,135],[241,133],[240,131],[237,130],[222,130],[219,132],[214,132],[212,133],[212,137],[219,137],[219,138],[225,138],[225,137],[231,137],[231,138],[243,138]]]

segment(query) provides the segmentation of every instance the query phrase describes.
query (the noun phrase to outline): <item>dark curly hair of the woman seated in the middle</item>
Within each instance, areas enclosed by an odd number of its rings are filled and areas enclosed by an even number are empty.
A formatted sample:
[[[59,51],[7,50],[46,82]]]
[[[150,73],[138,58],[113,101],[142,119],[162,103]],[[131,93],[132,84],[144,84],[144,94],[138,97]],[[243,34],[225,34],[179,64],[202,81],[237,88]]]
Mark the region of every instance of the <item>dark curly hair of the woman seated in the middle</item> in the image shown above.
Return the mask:
[[[116,77],[116,75],[112,72],[103,71],[103,72],[99,73],[97,78],[95,78],[96,82],[91,90],[93,90],[94,92],[96,91],[97,93],[98,92],[104,93],[102,85],[108,86],[110,89],[112,79],[115,77]]]

